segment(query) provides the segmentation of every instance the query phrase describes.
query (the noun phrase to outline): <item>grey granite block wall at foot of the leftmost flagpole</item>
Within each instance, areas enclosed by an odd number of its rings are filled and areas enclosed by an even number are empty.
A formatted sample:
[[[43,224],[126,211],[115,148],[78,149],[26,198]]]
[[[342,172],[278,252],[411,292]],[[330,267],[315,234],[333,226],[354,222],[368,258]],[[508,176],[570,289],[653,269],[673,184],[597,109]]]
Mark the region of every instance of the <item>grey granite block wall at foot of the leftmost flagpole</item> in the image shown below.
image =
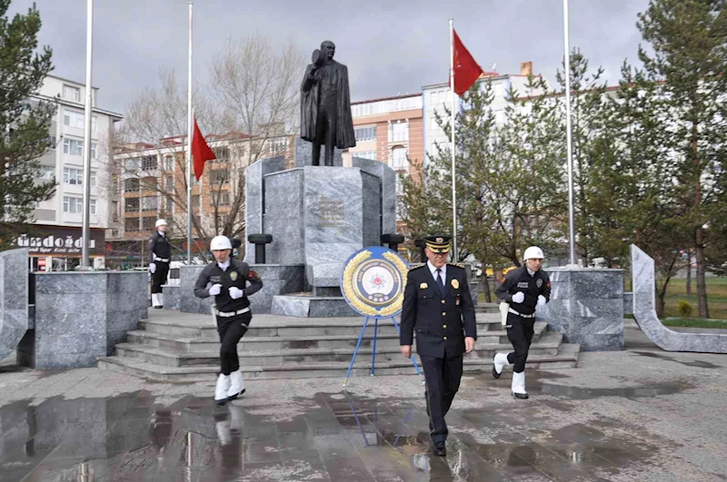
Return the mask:
[[[146,272],[35,273],[35,330],[20,347],[25,361],[37,369],[95,366],[146,318],[147,291]]]

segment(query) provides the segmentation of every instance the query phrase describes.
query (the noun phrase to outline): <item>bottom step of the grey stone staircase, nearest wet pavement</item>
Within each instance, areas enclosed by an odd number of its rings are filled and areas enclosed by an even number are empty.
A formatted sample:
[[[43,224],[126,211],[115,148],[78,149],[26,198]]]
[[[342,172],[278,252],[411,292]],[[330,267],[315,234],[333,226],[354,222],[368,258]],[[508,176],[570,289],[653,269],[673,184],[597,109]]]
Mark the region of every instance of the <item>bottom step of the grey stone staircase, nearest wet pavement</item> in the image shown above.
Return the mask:
[[[350,360],[349,360],[350,361]],[[344,379],[349,361],[336,361],[324,363],[285,363],[269,366],[241,367],[245,379],[316,379],[341,377]],[[578,355],[536,356],[528,357],[527,369],[572,369],[578,365]],[[166,367],[144,361],[125,357],[101,357],[98,359],[98,368],[120,371],[136,377],[154,379],[164,382],[193,382],[204,381],[213,383],[219,373],[218,365],[200,365],[193,367]],[[356,361],[352,376],[369,376],[371,359]],[[492,369],[492,362],[481,359],[465,359],[464,370],[467,372]],[[377,361],[375,364],[377,376],[385,375],[415,375],[411,362]],[[392,379],[392,383],[395,380]]]

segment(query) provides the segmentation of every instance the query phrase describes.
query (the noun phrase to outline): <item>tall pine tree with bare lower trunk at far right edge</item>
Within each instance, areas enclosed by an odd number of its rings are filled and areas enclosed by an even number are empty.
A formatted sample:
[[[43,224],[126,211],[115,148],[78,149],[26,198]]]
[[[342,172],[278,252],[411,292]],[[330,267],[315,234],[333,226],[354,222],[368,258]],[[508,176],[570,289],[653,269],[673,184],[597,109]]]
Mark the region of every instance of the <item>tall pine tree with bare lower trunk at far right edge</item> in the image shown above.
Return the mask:
[[[678,166],[673,182],[692,233],[699,316],[709,318],[705,226],[724,175],[727,8],[723,0],[652,0],[637,25],[653,51],[640,48],[639,57],[664,105],[670,157],[663,162]]]

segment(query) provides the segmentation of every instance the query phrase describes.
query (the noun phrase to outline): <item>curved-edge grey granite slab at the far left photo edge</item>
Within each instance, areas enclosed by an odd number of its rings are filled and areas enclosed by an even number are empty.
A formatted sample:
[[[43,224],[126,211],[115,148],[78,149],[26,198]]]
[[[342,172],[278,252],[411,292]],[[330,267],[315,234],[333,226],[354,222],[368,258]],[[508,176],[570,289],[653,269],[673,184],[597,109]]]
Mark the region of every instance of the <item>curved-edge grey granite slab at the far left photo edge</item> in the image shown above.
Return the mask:
[[[0,252],[0,360],[28,330],[28,250]]]

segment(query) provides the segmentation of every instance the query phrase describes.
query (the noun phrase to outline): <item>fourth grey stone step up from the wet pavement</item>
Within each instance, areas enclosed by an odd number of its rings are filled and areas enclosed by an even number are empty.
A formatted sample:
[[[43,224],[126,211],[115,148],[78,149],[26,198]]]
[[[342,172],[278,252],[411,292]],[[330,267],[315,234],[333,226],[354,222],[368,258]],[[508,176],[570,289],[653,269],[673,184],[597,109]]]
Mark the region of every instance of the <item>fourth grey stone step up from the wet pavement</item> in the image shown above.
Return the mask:
[[[141,320],[139,322],[139,330],[149,331],[152,333],[162,333],[164,335],[173,335],[182,338],[201,338],[201,339],[217,339],[217,330],[210,320],[209,326],[192,325],[190,323],[180,323],[173,320]],[[364,326],[364,321],[360,319],[353,320],[325,320],[324,322],[316,322],[315,324],[305,323],[304,321],[284,322],[284,323],[258,323],[256,319],[250,325],[250,330],[245,336],[248,337],[304,337],[304,336],[324,336],[324,335],[358,335]],[[366,330],[367,335],[373,336],[373,321],[369,322]],[[535,336],[546,327],[544,321],[535,322]],[[380,335],[397,334],[396,328],[391,320],[379,321]],[[481,337],[506,337],[507,333],[503,326],[497,322],[493,323],[489,320],[477,321],[477,333]]]

